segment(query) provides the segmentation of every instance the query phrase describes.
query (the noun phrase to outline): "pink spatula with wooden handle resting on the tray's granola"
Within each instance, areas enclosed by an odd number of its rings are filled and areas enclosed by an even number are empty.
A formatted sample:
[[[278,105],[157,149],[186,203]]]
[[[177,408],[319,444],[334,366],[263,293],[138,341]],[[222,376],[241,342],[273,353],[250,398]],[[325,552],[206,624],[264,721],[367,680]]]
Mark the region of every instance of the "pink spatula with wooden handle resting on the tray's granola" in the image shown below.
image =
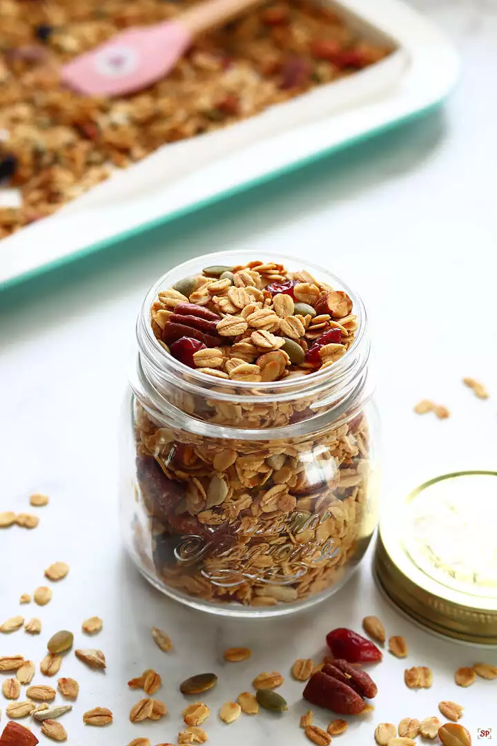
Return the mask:
[[[174,21],[130,28],[63,66],[64,84],[86,95],[142,90],[174,67],[198,34],[222,25],[262,0],[205,0]]]

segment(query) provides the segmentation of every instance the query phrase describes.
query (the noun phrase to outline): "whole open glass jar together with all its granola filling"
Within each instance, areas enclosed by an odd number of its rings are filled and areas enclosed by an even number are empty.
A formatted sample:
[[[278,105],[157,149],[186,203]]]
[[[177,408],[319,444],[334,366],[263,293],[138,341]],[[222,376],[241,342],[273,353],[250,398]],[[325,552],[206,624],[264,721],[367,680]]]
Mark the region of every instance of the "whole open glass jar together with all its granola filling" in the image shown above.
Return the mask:
[[[122,508],[156,586],[261,615],[324,598],[366,551],[376,420],[361,301],[322,269],[237,254],[145,300]]]

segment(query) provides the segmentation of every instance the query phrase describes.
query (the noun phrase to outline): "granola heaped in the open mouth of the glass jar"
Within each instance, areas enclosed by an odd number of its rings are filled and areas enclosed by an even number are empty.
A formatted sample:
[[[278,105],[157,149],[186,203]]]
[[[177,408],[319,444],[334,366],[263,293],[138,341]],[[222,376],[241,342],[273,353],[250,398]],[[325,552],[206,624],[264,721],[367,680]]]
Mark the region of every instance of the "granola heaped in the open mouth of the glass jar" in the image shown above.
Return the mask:
[[[332,366],[354,340],[357,316],[343,290],[306,271],[253,261],[212,266],[159,293],[153,333],[200,372],[261,383]]]

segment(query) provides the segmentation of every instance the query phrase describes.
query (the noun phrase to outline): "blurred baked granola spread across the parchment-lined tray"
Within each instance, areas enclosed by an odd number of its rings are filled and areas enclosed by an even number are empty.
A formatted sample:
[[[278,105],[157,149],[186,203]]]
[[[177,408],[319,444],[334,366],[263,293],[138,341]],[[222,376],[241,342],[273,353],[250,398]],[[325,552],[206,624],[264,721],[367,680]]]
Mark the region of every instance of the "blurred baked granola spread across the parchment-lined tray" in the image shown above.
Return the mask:
[[[197,0],[0,0],[0,239],[58,210],[115,168],[370,66],[390,50],[314,0],[279,0],[196,40],[167,78],[110,100],[60,87],[58,69],[133,26]],[[2,142],[3,140],[3,142]]]

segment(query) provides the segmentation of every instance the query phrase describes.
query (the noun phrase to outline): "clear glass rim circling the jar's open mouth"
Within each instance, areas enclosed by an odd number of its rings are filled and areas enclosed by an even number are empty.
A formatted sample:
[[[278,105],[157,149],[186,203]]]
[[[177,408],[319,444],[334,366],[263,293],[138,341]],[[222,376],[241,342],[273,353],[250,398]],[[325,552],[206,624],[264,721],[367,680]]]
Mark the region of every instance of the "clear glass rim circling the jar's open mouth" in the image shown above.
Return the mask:
[[[150,323],[151,306],[156,300],[159,294],[159,290],[163,285],[165,285],[165,283],[167,283],[167,278],[171,274],[174,273],[176,275],[179,272],[184,271],[182,277],[189,277],[189,275],[197,274],[199,272],[198,269],[194,269],[198,266],[199,260],[202,260],[202,262],[204,262],[205,260],[207,265],[209,265],[209,263],[221,263],[217,260],[228,258],[236,259],[237,257],[242,256],[246,257],[249,251],[250,249],[235,249],[235,251],[215,251],[211,254],[202,254],[201,257],[194,257],[187,260],[186,262],[174,266],[172,269],[169,269],[168,272],[165,272],[165,274],[162,275],[159,280],[156,280],[156,282],[153,283],[151,288],[148,290],[147,295],[145,295],[145,300],[143,301],[142,308],[139,313],[139,317],[136,323],[136,336],[139,342],[140,351],[145,353],[148,362],[151,363],[155,369],[168,369],[171,372],[180,375],[188,372],[189,379],[193,380],[195,384],[198,383],[200,388],[205,387],[206,389],[208,389],[209,386],[212,386],[211,376],[206,376],[205,373],[201,373],[196,369],[192,369],[189,366],[186,366],[184,363],[180,363],[180,360],[177,360],[171,354],[168,354],[168,352],[165,351],[162,345],[159,345],[159,342],[153,333],[152,325]],[[300,261],[298,257],[292,257],[288,254],[274,254],[273,252],[257,250],[253,253],[256,259],[259,259],[259,257],[264,257],[265,254],[268,254],[268,259],[270,258],[270,260],[273,262],[281,261],[282,263],[295,263]],[[333,275],[332,272],[329,272],[324,267],[321,267],[312,262],[308,262],[307,260],[302,261],[302,265],[302,269],[304,270],[314,270],[314,272],[317,272],[318,274],[326,275],[327,280],[330,280],[331,283],[335,283],[336,285],[338,285],[347,293],[347,295],[349,295],[349,298],[352,301],[352,310],[354,310],[355,315],[358,317],[358,327],[352,345],[350,345],[344,356],[337,360],[332,366],[320,369],[319,371],[314,373],[309,373],[300,378],[292,376],[282,378],[282,380],[277,381],[260,381],[254,383],[253,381],[238,380],[234,382],[231,379],[228,380],[225,378],[216,377],[215,384],[218,389],[218,393],[221,394],[221,396],[224,389],[226,389],[228,395],[228,392],[232,390],[233,385],[236,385],[236,388],[240,392],[246,390],[247,394],[253,395],[253,391],[254,389],[256,389],[257,392],[261,392],[261,394],[267,393],[268,395],[270,395],[270,398],[276,399],[279,398],[279,396],[284,395],[286,392],[291,391],[293,394],[296,394],[301,388],[301,386],[299,386],[299,381],[303,383],[302,388],[308,389],[310,386],[319,385],[320,383],[325,383],[326,381],[332,380],[335,377],[340,377],[341,374],[349,369],[352,358],[355,357],[355,355],[358,353],[358,349],[361,348],[361,342],[363,342],[364,340],[367,328],[367,314],[364,308],[364,303],[361,300],[361,297],[357,293],[353,292],[352,289],[350,289],[349,286],[346,285],[343,280],[341,280],[341,278],[338,278],[337,275]]]

